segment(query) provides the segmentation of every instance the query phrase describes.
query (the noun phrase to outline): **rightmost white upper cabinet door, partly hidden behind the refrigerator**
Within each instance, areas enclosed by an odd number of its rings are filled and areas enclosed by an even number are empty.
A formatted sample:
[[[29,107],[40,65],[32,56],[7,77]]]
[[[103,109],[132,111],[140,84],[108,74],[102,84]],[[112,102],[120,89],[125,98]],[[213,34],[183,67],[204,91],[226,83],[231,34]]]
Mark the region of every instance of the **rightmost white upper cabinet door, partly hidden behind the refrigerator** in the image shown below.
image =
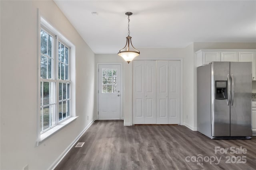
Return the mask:
[[[238,52],[238,61],[252,62],[252,80],[256,80],[256,55],[255,52]]]

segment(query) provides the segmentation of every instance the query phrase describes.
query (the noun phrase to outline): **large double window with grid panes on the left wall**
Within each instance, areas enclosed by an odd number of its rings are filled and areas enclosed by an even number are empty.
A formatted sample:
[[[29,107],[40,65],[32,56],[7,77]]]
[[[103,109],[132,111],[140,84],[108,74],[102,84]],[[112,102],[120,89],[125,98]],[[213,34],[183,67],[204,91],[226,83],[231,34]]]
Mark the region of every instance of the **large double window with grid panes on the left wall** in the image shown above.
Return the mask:
[[[70,117],[70,47],[40,30],[40,133]],[[57,97],[58,96],[58,97]]]

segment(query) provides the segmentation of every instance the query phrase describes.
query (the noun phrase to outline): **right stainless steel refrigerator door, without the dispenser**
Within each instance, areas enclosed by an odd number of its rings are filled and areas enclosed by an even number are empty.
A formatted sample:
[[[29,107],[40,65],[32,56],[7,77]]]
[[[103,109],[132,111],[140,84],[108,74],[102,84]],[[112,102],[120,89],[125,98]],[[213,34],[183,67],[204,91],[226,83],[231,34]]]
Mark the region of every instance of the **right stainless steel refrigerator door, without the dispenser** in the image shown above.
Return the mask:
[[[230,136],[252,136],[252,63],[231,62]]]

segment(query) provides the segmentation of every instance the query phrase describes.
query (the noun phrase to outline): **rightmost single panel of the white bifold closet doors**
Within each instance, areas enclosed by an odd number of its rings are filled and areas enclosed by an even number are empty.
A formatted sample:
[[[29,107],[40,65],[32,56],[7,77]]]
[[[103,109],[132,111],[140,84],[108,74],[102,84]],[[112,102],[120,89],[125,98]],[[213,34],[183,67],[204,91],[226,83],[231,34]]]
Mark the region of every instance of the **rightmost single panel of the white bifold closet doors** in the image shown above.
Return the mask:
[[[180,61],[169,61],[168,123],[180,124]]]

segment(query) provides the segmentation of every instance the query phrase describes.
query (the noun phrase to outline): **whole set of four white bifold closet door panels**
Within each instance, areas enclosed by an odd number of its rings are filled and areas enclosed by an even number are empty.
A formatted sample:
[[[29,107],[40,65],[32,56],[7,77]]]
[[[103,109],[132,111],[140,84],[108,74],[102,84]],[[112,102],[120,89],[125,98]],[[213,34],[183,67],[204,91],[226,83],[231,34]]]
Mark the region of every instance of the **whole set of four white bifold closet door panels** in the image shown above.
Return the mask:
[[[180,61],[133,61],[133,124],[180,124]]]

